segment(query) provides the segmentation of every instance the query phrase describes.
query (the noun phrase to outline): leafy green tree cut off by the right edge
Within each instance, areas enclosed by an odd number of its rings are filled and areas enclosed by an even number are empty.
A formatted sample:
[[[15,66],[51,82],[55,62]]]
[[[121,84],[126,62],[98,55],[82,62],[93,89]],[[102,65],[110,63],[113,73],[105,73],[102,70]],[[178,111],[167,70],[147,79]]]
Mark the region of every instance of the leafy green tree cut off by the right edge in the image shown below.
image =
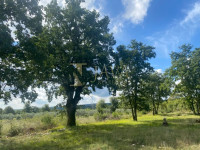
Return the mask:
[[[183,97],[194,114],[200,114],[200,49],[192,51],[191,45],[183,45],[180,52],[171,54],[170,75],[175,93]]]

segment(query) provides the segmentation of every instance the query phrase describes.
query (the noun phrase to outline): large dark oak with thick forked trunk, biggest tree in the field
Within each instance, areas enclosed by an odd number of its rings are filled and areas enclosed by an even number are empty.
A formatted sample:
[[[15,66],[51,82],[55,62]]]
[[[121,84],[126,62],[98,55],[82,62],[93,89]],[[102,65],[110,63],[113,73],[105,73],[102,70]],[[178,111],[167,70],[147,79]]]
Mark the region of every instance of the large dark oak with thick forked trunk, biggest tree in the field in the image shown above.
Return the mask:
[[[67,125],[75,126],[82,95],[112,84],[115,40],[109,33],[108,17],[81,8],[80,0],[66,3],[60,7],[53,0],[47,5],[43,32],[32,37],[26,45],[31,51],[25,53],[49,100],[54,96],[66,99]]]

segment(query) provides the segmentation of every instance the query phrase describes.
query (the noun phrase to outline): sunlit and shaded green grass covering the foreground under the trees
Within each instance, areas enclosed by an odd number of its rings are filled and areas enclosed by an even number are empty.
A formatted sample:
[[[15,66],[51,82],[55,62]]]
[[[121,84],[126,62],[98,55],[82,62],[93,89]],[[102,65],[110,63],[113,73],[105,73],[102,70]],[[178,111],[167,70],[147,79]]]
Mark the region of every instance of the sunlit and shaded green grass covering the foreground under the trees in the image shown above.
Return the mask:
[[[169,126],[162,126],[164,116],[143,115],[131,119],[95,122],[79,118],[79,125],[59,126],[16,137],[2,137],[2,150],[134,150],[200,149],[198,116],[165,116]]]

